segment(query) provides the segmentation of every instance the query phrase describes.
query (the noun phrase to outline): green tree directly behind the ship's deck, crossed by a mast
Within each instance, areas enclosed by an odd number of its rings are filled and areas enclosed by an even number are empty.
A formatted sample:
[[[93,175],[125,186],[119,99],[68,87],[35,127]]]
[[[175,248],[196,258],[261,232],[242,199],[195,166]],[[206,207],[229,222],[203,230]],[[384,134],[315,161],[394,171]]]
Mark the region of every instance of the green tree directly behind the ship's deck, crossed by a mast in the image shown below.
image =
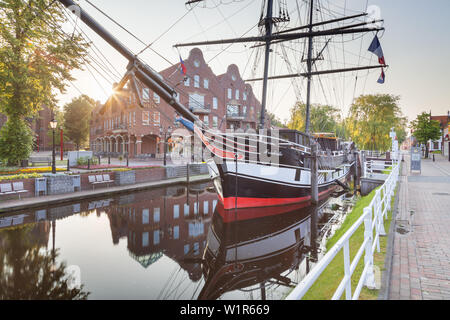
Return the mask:
[[[314,104],[310,110],[311,132],[333,132],[336,133],[338,121],[340,121],[339,110],[327,105]],[[291,109],[291,118],[288,128],[304,132],[306,129],[306,104],[297,102]]]

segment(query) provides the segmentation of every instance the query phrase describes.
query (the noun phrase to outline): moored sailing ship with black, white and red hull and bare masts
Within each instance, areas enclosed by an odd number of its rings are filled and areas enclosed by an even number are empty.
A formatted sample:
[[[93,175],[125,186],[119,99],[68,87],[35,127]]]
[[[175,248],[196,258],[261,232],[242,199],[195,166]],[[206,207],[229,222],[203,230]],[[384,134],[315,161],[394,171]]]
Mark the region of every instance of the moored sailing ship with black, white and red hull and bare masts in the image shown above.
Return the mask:
[[[286,77],[305,77],[308,84],[305,132],[281,130],[280,137],[273,134],[274,130],[265,134],[263,134],[264,131],[255,134],[212,131],[189,108],[178,101],[176,89],[161,75],[122,45],[72,0],[59,1],[69,9],[77,7],[79,18],[129,60],[128,71],[116,90],[120,90],[128,82],[133,87],[138,79],[169,103],[179,114],[176,120],[191,130],[201,140],[203,146],[211,152],[213,158],[208,160],[207,164],[225,210],[310,203],[311,201],[317,203],[320,199],[326,198],[337,185],[343,185],[352,171],[351,168],[357,164],[354,145],[341,144],[338,140],[330,144],[330,137],[314,136],[310,132],[311,80],[313,76],[321,74],[384,68],[386,65],[383,60],[376,66],[313,71],[315,60],[318,59],[313,57],[313,39],[384,30],[384,28],[368,26],[373,21],[330,27],[319,31],[315,29],[318,26],[365,17],[367,13],[315,22],[313,20],[314,0],[310,0],[307,25],[273,32],[274,26],[285,21],[286,16],[274,16],[274,1],[267,0],[264,7],[265,16],[263,14],[259,22],[259,26],[265,29],[264,35],[175,45],[175,47],[181,47],[243,42],[264,45],[264,76],[261,79],[251,79],[263,81],[260,129],[266,127],[268,81]],[[307,31],[304,31],[305,29]],[[275,42],[295,39],[307,39],[308,54],[305,60],[307,72],[269,77],[271,45]],[[137,91],[136,88],[135,90]]]

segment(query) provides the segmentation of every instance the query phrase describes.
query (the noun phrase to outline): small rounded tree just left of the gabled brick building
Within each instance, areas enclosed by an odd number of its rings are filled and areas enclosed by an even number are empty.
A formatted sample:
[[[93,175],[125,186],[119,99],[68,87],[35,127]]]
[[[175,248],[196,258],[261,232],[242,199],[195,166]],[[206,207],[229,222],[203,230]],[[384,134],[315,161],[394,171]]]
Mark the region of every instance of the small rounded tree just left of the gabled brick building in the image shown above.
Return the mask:
[[[86,95],[74,98],[64,106],[64,132],[77,150],[89,141],[91,113],[95,101]]]

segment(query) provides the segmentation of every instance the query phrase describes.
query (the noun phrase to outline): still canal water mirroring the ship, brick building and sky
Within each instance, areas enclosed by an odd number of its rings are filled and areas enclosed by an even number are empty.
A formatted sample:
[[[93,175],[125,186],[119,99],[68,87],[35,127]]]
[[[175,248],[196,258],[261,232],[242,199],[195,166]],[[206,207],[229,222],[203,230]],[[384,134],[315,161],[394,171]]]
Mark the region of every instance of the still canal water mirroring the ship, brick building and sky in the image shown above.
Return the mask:
[[[0,299],[279,300],[323,255],[344,197],[225,211],[197,184],[2,215]]]

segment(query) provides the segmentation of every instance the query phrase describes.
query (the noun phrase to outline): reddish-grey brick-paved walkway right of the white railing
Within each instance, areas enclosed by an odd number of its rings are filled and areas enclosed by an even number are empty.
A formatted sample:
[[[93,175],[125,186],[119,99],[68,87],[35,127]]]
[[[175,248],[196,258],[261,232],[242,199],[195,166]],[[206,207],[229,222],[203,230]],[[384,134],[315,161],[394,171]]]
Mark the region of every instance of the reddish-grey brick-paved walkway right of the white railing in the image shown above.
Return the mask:
[[[405,156],[396,217],[390,300],[450,300],[450,162]]]

